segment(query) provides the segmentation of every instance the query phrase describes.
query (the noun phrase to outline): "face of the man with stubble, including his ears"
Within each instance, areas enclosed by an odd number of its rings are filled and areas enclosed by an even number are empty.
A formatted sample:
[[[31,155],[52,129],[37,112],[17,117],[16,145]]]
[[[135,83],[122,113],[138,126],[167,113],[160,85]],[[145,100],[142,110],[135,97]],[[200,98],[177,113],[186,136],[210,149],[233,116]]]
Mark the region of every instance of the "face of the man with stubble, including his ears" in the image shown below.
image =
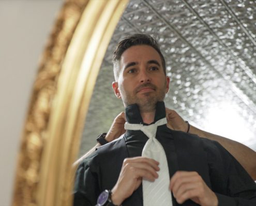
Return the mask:
[[[125,106],[138,104],[147,108],[164,99],[169,81],[157,51],[148,45],[137,45],[122,54],[119,77],[112,87]]]

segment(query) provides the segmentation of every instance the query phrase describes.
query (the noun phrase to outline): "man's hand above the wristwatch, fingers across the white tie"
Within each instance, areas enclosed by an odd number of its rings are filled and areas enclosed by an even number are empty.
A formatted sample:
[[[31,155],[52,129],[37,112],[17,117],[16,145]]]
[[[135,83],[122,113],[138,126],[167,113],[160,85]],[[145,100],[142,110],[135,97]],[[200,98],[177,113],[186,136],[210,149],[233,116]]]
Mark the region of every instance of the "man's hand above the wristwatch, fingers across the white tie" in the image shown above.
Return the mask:
[[[142,178],[155,181],[158,178],[158,164],[157,161],[145,157],[126,158],[119,178],[112,189],[112,202],[116,205],[122,204],[137,190]]]

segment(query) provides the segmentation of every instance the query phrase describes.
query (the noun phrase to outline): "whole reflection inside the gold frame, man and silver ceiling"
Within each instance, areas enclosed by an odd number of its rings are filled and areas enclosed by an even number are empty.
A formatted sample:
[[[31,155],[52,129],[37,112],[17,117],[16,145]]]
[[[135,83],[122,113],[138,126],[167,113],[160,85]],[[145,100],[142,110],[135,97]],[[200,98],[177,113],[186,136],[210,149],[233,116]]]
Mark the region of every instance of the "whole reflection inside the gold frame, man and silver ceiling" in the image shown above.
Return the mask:
[[[80,156],[122,111],[126,123],[120,114],[111,127],[126,133],[99,136],[77,169],[74,205],[255,204],[254,6],[130,1],[97,79]],[[177,113],[167,109],[165,118],[165,107]]]

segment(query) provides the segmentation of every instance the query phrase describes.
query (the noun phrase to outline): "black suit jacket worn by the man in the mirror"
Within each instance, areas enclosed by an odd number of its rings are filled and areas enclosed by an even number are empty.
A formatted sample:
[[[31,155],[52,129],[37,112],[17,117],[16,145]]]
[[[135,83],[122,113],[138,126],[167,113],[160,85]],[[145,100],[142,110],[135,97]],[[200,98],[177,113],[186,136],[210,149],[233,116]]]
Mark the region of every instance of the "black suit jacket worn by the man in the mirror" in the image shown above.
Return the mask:
[[[170,178],[177,170],[197,171],[216,193],[219,205],[256,205],[256,184],[221,145],[170,130],[165,125],[161,126],[160,132],[170,134],[170,138],[161,140],[168,157]],[[99,147],[78,168],[74,205],[95,205],[100,192],[113,188],[127,157],[124,138]],[[134,191],[122,205],[143,205],[142,187]],[[175,198],[173,205],[179,205]],[[182,205],[198,204],[188,200]]]

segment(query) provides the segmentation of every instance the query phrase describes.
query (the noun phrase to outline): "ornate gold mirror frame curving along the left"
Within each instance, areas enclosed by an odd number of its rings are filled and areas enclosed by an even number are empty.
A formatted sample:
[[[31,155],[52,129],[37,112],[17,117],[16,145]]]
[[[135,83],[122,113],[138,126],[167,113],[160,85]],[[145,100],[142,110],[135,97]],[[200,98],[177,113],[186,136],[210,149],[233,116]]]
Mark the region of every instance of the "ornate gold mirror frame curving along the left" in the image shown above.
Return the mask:
[[[128,0],[68,0],[43,53],[12,205],[71,205],[84,119],[99,68]]]

